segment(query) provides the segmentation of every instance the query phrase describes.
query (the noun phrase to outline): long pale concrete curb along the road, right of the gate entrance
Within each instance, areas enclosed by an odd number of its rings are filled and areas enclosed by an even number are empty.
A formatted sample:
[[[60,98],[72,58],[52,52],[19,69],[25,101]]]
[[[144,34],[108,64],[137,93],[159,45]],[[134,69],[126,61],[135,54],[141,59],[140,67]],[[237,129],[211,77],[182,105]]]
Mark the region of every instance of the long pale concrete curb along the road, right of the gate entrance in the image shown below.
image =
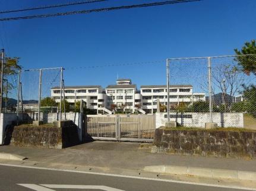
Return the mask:
[[[240,170],[224,170],[224,169],[209,169],[199,167],[185,166],[146,166],[144,171],[154,173],[166,173],[187,176],[210,177],[213,179],[236,179],[236,180],[253,180],[256,181],[256,172],[240,171]]]

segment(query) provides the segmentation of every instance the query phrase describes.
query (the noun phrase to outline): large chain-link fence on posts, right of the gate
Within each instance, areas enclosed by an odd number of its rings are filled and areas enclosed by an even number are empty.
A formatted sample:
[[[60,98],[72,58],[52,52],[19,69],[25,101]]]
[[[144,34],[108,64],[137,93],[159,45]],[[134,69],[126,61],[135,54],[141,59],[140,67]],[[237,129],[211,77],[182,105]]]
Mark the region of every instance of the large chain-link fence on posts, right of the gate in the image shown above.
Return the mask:
[[[255,62],[256,55],[168,59],[170,116],[204,113],[198,121],[225,127],[234,126],[239,115],[241,127],[256,122],[256,76],[246,70]],[[184,115],[181,125],[189,121]]]

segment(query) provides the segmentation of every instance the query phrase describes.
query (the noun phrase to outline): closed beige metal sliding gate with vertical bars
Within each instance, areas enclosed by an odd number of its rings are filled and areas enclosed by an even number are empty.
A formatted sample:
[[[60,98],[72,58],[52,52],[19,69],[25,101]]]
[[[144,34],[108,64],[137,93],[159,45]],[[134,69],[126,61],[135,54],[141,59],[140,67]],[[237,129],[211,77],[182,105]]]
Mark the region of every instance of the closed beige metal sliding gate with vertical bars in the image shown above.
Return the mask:
[[[153,142],[155,115],[87,115],[86,138]]]

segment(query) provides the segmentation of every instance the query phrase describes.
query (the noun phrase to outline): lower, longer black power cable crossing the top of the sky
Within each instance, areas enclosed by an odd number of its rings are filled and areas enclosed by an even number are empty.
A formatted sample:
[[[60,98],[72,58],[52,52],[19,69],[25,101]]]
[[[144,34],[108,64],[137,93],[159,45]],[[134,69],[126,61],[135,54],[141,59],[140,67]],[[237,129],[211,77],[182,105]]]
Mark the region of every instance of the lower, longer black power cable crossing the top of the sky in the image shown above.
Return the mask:
[[[74,15],[74,14],[89,14],[91,12],[103,12],[103,11],[113,11],[118,9],[153,7],[153,6],[159,6],[159,5],[179,4],[179,3],[195,2],[195,1],[202,1],[202,0],[162,1],[162,2],[153,2],[149,4],[126,5],[126,6],[120,6],[120,7],[108,7],[108,8],[89,9],[89,10],[71,11],[71,12],[59,12],[56,14],[31,15],[26,17],[9,17],[9,18],[1,18],[0,21],[25,20],[25,19],[32,19],[32,18],[46,18],[46,17],[56,17],[56,16]]]

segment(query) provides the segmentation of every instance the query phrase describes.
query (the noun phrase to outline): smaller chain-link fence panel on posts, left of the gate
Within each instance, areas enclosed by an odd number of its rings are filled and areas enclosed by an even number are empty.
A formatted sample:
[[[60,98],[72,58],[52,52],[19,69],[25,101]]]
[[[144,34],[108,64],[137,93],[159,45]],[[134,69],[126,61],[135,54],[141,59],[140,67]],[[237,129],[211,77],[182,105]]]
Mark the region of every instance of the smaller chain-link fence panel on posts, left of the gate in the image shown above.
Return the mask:
[[[19,119],[28,122],[62,119],[65,113],[62,68],[21,70],[17,82]]]

